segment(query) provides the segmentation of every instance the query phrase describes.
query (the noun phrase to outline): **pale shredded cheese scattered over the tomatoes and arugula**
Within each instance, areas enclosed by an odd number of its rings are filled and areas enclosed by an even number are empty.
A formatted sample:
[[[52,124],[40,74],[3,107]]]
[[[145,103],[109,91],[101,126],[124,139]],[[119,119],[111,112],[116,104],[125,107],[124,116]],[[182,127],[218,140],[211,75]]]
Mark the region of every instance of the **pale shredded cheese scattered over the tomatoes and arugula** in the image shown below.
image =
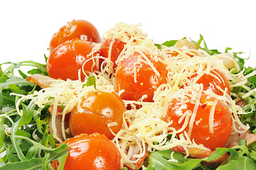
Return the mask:
[[[123,124],[120,131],[118,131],[113,138],[113,142],[118,147],[122,162],[130,168],[135,168],[135,163],[144,157],[147,152],[154,152],[155,150],[172,149],[173,147],[183,147],[189,156],[189,147],[196,147],[200,149],[207,149],[201,144],[197,144],[194,140],[190,139],[191,132],[193,130],[194,123],[200,125],[201,120],[195,120],[197,110],[199,106],[204,103],[200,103],[201,94],[204,93],[208,98],[216,98],[218,100],[207,103],[211,104],[211,111],[209,114],[208,125],[209,132],[213,131],[214,112],[216,110],[217,101],[223,101],[228,107],[230,114],[233,116],[233,123],[238,123],[241,129],[236,129],[233,125],[233,129],[237,132],[247,130],[249,127],[243,125],[239,120],[240,114],[245,114],[240,106],[235,105],[235,100],[228,95],[228,89],[221,89],[220,86],[216,86],[216,89],[223,92],[223,95],[219,96],[213,93],[211,90],[203,90],[203,85],[198,84],[197,81],[208,74],[214,77],[221,84],[225,84],[224,77],[218,74],[215,70],[222,72],[226,76],[226,79],[230,81],[230,88],[235,86],[245,86],[247,78],[256,75],[256,71],[243,76],[244,70],[239,74],[231,74],[227,67],[235,66],[239,69],[238,63],[235,62],[233,56],[229,54],[209,55],[204,50],[196,50],[187,46],[183,47],[165,47],[162,46],[161,50],[158,50],[155,46],[155,42],[147,37],[140,28],[140,25],[128,25],[126,23],[117,23],[116,26],[108,30],[104,34],[104,39],[112,40],[108,50],[108,58],[99,56],[99,50],[101,43],[94,44],[94,49],[91,52],[91,59],[93,60],[93,66],[99,64],[99,60],[104,60],[101,64],[101,72],[91,73],[96,77],[96,89],[103,91],[115,91],[114,89],[114,69],[113,62],[111,62],[111,51],[113,48],[113,40],[121,40],[125,42],[124,48],[121,54],[116,60],[116,64],[121,63],[131,55],[139,55],[137,61],[134,63],[134,68],[137,64],[148,64],[150,68],[155,72],[157,76],[160,76],[160,72],[157,71],[152,61],[161,62],[165,64],[167,69],[167,84],[160,85],[154,93],[154,102],[143,102],[143,98],[147,97],[146,94],[140,98],[139,101],[124,101],[126,106],[130,106],[131,109],[123,113]],[[84,37],[85,38],[85,37]],[[89,62],[89,60],[87,60]],[[85,62],[85,63],[87,63]],[[85,64],[84,63],[84,64]],[[213,74],[214,73],[214,74]],[[77,73],[74,73],[77,74]],[[87,75],[84,69],[81,73]],[[218,76],[216,76],[218,75]],[[134,82],[137,82],[137,71],[134,69]],[[192,78],[191,78],[192,77]],[[66,140],[66,132],[68,129],[64,128],[65,115],[72,111],[74,107],[77,110],[82,110],[82,99],[87,97],[89,91],[94,91],[94,86],[84,86],[84,80],[81,78],[77,81],[56,80],[50,87],[41,91],[35,91],[34,94],[28,96],[17,95],[20,98],[17,102],[17,111],[19,115],[22,115],[22,111],[18,108],[19,103],[26,99],[31,99],[33,103],[37,104],[40,108],[46,105],[52,106],[52,129],[53,136],[56,140],[61,142],[60,137],[56,135],[55,117],[57,114],[57,107],[64,107],[62,112],[62,135]],[[243,95],[243,98],[252,95],[255,90],[245,87],[248,90],[247,94]],[[146,91],[147,89],[145,89]],[[124,90],[119,91],[122,94]],[[187,91],[190,91],[189,93]],[[232,94],[238,98],[237,95]],[[179,100],[182,103],[180,108],[177,108],[177,115],[179,115],[178,123],[182,123],[182,128],[172,128],[172,121],[167,123],[165,121],[165,115],[169,106],[172,103],[172,99]],[[186,111],[187,103],[193,103],[193,111]],[[137,106],[140,106],[139,108]],[[172,108],[176,109],[176,108]],[[1,115],[4,116],[4,115]],[[8,118],[8,117],[7,117]],[[108,123],[108,127],[111,130],[112,126],[115,126],[116,122]],[[189,128],[188,132],[184,132],[186,128]],[[111,131],[112,132],[112,131]],[[176,135],[179,138],[175,137]],[[167,139],[168,137],[168,139]],[[208,137],[206,137],[208,140]],[[171,155],[170,162],[177,162]]]

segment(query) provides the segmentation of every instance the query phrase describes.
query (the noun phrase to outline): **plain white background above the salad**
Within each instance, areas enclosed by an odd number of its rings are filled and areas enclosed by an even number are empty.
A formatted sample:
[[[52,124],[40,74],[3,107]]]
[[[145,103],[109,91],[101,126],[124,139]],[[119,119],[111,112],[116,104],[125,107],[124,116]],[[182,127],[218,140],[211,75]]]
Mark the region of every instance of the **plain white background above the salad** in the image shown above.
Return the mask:
[[[226,47],[251,55],[256,67],[255,1],[1,1],[0,62],[44,62],[53,33],[67,21],[87,20],[103,35],[115,23],[142,23],[156,43],[199,40],[210,49]]]

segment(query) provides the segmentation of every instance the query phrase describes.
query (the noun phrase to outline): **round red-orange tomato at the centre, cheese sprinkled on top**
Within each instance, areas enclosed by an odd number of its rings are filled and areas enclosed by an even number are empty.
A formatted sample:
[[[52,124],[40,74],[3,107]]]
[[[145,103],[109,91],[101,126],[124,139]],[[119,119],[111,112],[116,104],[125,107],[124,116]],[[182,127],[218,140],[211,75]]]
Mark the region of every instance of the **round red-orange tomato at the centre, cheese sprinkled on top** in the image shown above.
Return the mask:
[[[160,73],[157,75],[149,64],[138,63],[141,57],[141,55],[131,55],[118,64],[114,87],[117,93],[124,90],[120,95],[124,100],[138,101],[146,94],[148,97],[143,101],[152,102],[154,91],[158,86],[167,82],[167,70],[165,64],[150,59],[157,72]]]

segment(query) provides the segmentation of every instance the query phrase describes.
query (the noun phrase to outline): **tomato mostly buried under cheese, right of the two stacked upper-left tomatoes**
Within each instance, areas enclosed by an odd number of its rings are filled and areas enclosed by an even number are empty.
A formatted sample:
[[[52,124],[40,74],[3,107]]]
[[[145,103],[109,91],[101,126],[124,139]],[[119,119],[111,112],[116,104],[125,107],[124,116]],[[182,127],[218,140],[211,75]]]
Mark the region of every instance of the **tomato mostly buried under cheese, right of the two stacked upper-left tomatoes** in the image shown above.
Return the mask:
[[[111,46],[111,43],[112,43],[112,46]],[[126,42],[123,42],[118,39],[115,39],[115,40],[105,39],[101,45],[100,55],[102,57],[107,58],[108,60],[111,60],[111,62],[113,62],[113,69],[116,69],[117,67],[116,60],[118,59],[118,56],[122,52],[124,45],[126,45]],[[108,52],[109,52],[110,46],[111,46],[111,55],[109,56]]]

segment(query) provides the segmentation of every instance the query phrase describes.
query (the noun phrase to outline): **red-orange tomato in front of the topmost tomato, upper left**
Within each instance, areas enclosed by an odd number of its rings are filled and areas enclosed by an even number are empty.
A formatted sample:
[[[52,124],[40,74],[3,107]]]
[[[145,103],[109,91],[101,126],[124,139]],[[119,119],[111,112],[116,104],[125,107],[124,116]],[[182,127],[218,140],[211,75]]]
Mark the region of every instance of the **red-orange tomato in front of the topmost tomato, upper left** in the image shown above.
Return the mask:
[[[81,69],[81,78],[85,75],[82,73],[82,65],[89,60],[93,45],[86,40],[73,39],[57,46],[50,53],[47,61],[47,71],[50,77],[55,79],[78,79],[78,70]],[[94,60],[89,60],[84,64],[85,72],[94,72],[99,70],[99,64],[95,65]]]

